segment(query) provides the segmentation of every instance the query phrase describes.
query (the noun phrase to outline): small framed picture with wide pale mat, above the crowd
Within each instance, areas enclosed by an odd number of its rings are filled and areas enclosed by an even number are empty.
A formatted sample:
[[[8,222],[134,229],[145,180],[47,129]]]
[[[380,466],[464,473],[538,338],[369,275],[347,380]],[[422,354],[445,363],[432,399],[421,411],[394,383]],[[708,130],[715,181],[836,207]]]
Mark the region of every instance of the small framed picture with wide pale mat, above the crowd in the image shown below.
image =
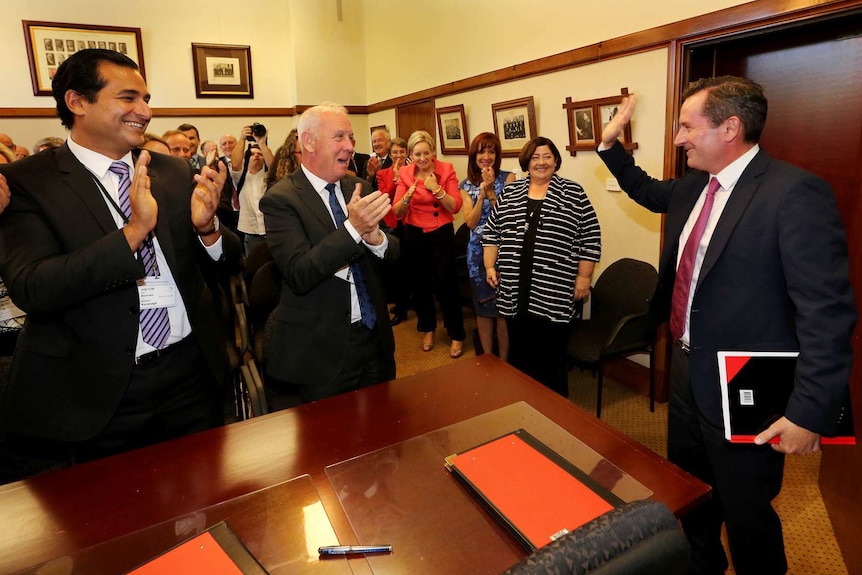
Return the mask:
[[[198,98],[253,98],[251,47],[192,44]]]

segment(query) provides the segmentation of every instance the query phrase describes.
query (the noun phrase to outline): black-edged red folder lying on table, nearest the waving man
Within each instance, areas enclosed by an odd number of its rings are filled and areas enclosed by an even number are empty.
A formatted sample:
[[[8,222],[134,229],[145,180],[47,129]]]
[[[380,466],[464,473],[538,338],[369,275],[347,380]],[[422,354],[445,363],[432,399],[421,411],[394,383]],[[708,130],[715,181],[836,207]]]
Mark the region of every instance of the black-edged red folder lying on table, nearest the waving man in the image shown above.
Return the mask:
[[[623,503],[523,429],[450,455],[446,468],[529,551]]]

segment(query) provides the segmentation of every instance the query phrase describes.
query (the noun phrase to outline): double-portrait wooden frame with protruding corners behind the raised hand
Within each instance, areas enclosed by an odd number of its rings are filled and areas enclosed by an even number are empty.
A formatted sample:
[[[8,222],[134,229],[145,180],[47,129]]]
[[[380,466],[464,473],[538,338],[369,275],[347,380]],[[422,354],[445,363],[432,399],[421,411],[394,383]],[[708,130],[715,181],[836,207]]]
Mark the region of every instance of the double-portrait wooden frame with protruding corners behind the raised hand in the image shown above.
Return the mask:
[[[602,139],[602,131],[616,116],[623,98],[628,93],[628,88],[622,88],[618,96],[607,98],[580,102],[573,102],[571,98],[566,98],[563,104],[569,120],[569,145],[566,149],[572,156],[578,152],[592,152],[598,147]],[[632,142],[631,124],[626,125],[619,139],[629,151],[638,147]]]

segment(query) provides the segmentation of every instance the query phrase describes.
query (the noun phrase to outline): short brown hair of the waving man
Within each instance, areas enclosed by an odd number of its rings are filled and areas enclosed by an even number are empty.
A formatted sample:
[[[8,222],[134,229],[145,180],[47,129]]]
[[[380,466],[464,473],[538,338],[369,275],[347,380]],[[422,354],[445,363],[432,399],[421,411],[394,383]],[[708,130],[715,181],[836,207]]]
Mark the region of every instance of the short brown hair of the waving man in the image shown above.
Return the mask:
[[[703,115],[709,118],[713,128],[736,116],[742,121],[745,141],[756,143],[760,140],[768,109],[763,86],[738,76],[701,78],[686,87],[682,99],[685,101],[703,90],[707,90]]]

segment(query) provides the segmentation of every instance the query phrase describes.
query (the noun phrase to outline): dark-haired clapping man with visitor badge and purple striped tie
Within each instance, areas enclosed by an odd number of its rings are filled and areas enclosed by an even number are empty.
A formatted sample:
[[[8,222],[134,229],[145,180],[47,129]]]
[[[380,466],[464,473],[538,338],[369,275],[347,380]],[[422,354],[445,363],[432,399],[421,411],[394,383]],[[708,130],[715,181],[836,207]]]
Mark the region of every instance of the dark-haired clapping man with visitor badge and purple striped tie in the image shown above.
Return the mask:
[[[136,150],[150,95],[124,55],[77,52],[52,87],[67,143],[3,171],[0,275],[28,317],[0,425],[66,462],[220,425],[207,282],[239,261],[214,216],[227,173]]]

